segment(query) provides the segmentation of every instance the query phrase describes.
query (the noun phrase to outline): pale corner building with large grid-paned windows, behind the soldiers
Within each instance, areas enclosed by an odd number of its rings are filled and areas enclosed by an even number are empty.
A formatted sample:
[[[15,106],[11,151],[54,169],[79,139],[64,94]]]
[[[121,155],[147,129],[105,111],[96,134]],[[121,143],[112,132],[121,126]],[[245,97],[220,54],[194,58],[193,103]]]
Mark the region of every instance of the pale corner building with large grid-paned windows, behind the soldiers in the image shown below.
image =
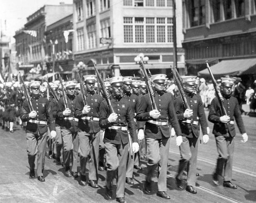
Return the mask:
[[[177,13],[182,4],[177,1]],[[177,16],[178,68],[184,70],[182,16]],[[74,60],[102,77],[141,76],[134,58],[143,53],[152,74],[170,76],[173,64],[172,0],[74,0]]]

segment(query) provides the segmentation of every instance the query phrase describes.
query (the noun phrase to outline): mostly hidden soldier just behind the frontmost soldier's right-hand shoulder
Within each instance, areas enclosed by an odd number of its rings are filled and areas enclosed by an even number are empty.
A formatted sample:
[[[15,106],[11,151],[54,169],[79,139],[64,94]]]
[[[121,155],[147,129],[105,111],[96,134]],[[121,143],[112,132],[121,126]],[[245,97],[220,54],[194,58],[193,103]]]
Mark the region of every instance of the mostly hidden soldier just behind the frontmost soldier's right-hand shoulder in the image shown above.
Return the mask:
[[[135,116],[136,116],[135,107],[136,107],[136,104],[138,104],[139,100],[138,100],[138,96],[136,96],[135,94],[132,93],[133,80],[134,80],[134,77],[131,77],[131,76],[123,77],[123,97],[130,102],[132,110],[133,110],[133,114],[134,114],[134,119],[135,119]],[[142,133],[143,133],[143,130],[142,130]],[[139,165],[134,166],[135,154],[132,154],[132,155],[134,157],[133,159],[132,159],[132,156],[129,151],[128,162],[127,162],[127,167],[126,167],[126,178],[125,178],[125,182],[129,185],[134,184],[134,182],[133,182],[134,167],[136,169],[141,170],[141,167]]]

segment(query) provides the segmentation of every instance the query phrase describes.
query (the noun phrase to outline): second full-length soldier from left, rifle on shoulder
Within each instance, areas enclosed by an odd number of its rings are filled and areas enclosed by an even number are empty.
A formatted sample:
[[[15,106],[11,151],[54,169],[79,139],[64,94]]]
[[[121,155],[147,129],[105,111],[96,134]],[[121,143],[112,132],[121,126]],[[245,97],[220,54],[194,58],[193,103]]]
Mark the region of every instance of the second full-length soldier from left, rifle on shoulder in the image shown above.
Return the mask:
[[[61,137],[63,141],[63,162],[67,177],[78,177],[77,173],[77,159],[78,159],[78,119],[75,118],[75,81],[68,81],[65,83],[67,90],[68,106],[65,107],[63,97],[58,101],[57,116],[62,120],[60,123]],[[72,167],[70,172],[70,162],[72,160]]]

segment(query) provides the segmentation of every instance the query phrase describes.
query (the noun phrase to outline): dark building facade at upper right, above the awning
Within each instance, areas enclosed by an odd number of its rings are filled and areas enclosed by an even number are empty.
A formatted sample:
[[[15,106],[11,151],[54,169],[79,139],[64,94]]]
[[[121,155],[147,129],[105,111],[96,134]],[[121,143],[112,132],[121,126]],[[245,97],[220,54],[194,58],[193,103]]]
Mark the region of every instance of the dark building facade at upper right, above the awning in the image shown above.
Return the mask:
[[[205,60],[214,65],[222,60],[255,58],[256,1],[183,0],[182,8],[183,48],[189,75],[206,69]],[[241,62],[242,70],[245,63]],[[230,71],[230,75],[236,74],[252,80],[254,73],[243,76],[243,71]]]

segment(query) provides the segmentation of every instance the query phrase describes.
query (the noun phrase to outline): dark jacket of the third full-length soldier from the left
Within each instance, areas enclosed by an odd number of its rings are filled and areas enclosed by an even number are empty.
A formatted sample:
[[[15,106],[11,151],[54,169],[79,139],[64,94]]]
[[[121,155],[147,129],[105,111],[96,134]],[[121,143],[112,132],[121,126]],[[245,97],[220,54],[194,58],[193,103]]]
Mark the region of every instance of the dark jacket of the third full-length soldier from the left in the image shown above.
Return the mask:
[[[84,107],[82,95],[79,94],[76,97],[76,108],[75,115],[79,118],[78,127],[79,130],[88,132],[88,133],[97,133],[100,131],[99,121],[93,120],[93,118],[99,118],[99,105],[102,102],[103,98],[96,93],[87,93],[87,104],[91,107],[91,110],[88,114],[83,114],[82,109]],[[91,117],[91,120],[82,120],[82,117]]]

